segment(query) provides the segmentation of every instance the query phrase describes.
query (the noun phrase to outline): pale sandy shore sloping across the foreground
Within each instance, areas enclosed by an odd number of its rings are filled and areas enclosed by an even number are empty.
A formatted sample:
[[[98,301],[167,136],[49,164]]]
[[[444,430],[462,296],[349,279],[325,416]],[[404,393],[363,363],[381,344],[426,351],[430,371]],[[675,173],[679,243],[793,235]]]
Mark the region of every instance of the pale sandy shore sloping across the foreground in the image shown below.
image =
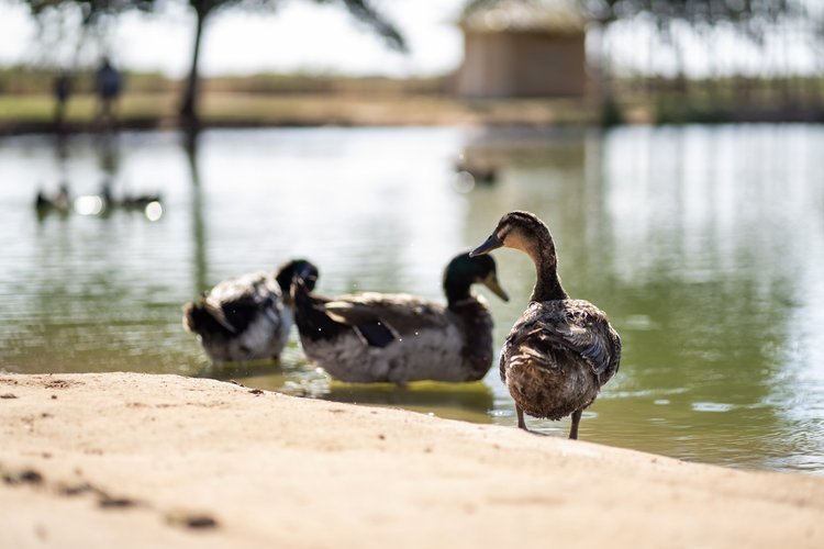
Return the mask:
[[[824,547],[820,478],[176,376],[0,396],[0,547]]]

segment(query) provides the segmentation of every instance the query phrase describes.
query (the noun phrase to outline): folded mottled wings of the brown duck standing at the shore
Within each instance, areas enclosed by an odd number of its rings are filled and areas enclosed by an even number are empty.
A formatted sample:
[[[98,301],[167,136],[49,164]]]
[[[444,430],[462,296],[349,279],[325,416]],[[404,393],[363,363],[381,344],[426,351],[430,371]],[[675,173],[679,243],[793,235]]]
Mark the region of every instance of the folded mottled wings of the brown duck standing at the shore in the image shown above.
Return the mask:
[[[621,338],[606,315],[582,300],[533,303],[512,328],[509,347],[527,352],[538,363],[555,363],[558,351],[582,358],[597,376],[615,373],[621,359]]]

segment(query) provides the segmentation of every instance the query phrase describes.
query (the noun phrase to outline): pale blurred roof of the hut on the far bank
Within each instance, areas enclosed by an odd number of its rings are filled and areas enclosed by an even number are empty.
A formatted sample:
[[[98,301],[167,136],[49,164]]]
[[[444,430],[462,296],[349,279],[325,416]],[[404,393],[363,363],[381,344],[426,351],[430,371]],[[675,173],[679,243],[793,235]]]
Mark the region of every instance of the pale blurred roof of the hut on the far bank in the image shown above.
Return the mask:
[[[472,0],[458,20],[474,32],[583,32],[587,16],[575,0]]]

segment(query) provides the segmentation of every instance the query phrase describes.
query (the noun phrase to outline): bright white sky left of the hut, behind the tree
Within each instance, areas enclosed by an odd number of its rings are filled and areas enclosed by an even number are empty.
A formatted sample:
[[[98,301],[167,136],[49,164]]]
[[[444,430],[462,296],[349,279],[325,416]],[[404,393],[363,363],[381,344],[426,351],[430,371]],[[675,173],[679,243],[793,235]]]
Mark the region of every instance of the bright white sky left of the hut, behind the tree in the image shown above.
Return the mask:
[[[271,13],[229,10],[212,15],[201,51],[203,74],[335,71],[352,75],[430,76],[460,63],[463,38],[453,21],[464,0],[377,2],[405,35],[410,53],[390,52],[345,9],[288,0]],[[155,15],[126,14],[112,30],[113,58],[135,70],[185,74],[193,15],[172,2]],[[25,9],[0,0],[0,65],[36,61],[36,27]]]

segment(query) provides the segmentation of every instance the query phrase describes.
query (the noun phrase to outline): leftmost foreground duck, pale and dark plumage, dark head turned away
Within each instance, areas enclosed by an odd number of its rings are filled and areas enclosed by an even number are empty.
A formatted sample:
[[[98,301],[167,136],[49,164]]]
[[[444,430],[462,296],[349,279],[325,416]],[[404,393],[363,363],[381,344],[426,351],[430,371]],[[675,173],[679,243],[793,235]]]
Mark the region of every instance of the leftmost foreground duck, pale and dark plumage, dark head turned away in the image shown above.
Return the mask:
[[[294,323],[289,287],[296,276],[314,288],[318,268],[293,259],[276,273],[250,272],[220,282],[183,305],[183,327],[213,363],[278,359]]]

